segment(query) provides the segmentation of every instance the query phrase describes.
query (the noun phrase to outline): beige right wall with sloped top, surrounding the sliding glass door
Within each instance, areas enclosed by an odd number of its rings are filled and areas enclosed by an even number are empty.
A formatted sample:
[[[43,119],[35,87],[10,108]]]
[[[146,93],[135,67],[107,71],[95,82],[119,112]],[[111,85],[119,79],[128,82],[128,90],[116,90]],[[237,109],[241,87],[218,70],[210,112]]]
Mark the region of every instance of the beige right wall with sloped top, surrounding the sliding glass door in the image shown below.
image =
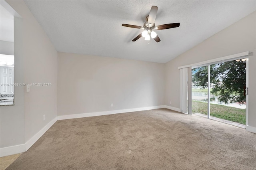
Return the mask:
[[[256,127],[256,12],[218,32],[192,49],[166,63],[166,105],[180,107],[180,72],[178,66],[198,63],[244,51],[249,57],[248,125]],[[169,102],[172,101],[172,105]]]

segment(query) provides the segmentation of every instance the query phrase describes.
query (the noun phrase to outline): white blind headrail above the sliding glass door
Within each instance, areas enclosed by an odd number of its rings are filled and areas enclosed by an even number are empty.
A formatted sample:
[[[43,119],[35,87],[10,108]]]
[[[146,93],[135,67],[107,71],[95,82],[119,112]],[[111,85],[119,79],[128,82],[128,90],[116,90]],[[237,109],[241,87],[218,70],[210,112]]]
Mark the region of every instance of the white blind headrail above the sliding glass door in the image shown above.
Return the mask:
[[[199,62],[199,63],[180,66],[180,67],[178,67],[178,69],[183,69],[183,68],[186,68],[186,67],[194,67],[194,66],[203,66],[203,65],[208,65],[208,64],[214,64],[214,63],[219,63],[220,61],[226,61],[226,60],[229,60],[229,59],[237,59],[237,58],[248,56],[248,55],[249,55],[249,51],[246,51],[246,52],[242,52],[242,53],[238,53],[238,54],[228,55],[228,56],[225,56],[225,57],[220,57],[220,58],[210,59],[210,60],[207,60],[207,61],[202,61],[202,62]]]

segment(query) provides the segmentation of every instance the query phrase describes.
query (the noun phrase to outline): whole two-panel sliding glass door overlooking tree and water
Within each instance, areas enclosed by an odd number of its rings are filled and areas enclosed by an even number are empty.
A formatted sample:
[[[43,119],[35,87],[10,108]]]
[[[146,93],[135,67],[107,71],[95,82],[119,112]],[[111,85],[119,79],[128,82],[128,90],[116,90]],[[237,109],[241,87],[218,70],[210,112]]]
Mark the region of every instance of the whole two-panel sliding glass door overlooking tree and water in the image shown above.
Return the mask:
[[[192,114],[245,125],[246,58],[192,67],[190,93],[188,106],[192,106]]]

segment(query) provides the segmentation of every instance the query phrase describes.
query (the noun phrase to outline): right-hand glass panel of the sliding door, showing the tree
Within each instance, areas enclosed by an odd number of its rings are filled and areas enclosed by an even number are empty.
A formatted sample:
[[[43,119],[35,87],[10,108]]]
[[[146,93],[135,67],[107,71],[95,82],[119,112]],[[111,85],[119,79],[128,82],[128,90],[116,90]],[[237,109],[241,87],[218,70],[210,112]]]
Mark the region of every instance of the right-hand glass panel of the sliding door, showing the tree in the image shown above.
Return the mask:
[[[246,58],[210,68],[210,116],[246,125]]]

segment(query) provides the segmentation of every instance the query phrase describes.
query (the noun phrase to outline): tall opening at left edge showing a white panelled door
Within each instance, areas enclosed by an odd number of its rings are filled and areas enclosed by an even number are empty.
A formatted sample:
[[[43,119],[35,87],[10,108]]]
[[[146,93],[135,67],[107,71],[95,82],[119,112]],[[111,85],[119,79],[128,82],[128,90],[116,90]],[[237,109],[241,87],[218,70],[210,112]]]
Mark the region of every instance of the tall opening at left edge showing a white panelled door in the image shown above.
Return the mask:
[[[14,15],[6,2],[0,4],[0,21],[0,106],[6,106],[14,105]]]

